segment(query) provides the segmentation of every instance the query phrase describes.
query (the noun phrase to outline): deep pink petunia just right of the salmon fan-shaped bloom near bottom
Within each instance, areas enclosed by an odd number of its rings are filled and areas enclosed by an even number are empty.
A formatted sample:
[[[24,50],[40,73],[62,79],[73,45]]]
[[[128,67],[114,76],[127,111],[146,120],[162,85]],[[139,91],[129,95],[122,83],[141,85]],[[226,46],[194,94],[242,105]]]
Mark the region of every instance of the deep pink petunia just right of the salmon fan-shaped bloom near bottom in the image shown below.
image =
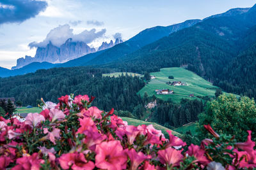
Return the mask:
[[[191,144],[188,147],[188,151],[186,153],[188,153],[189,156],[194,156],[196,158],[194,162],[200,162],[204,165],[209,163],[209,160],[204,155],[205,151],[201,149],[198,145]]]

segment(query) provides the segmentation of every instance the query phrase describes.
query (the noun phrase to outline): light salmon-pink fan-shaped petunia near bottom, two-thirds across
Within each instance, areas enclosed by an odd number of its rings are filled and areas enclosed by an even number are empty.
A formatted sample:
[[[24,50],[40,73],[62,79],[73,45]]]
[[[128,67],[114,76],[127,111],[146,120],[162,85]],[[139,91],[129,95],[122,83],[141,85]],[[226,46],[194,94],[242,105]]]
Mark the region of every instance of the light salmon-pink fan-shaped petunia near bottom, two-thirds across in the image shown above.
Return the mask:
[[[179,150],[174,148],[166,148],[165,150],[159,150],[158,157],[162,164],[166,166],[179,166],[180,161],[183,159],[183,155]]]

